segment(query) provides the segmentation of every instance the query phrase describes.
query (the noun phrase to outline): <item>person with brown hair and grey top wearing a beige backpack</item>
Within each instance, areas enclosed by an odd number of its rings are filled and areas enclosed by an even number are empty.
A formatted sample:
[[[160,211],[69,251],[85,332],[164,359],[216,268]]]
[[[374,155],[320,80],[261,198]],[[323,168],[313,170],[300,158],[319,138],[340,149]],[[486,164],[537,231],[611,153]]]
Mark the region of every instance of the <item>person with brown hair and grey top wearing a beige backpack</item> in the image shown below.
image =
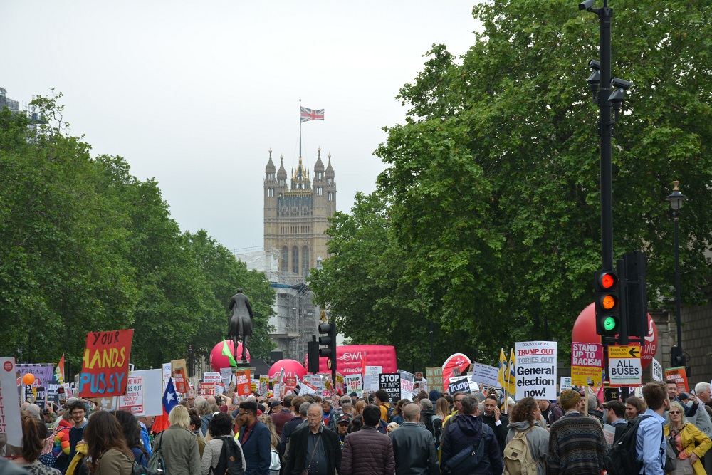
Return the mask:
[[[540,401],[533,397],[525,397],[520,400],[512,409],[509,419],[509,431],[507,432],[504,465],[508,468],[508,458],[513,447],[510,442],[514,437],[523,437],[527,444],[530,456],[530,463],[536,466],[537,475],[546,473],[546,454],[549,449],[549,432],[543,427],[539,427],[537,421],[541,416]]]

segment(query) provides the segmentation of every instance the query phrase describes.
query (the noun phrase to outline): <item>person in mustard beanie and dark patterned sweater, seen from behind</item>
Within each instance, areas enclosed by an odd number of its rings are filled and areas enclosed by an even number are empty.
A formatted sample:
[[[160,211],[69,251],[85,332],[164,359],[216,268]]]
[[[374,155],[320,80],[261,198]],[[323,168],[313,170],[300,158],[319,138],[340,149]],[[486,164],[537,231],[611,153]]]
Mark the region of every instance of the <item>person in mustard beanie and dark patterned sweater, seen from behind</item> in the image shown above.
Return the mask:
[[[561,392],[564,416],[552,424],[546,473],[600,475],[606,439],[597,419],[582,415],[585,400],[575,390]]]

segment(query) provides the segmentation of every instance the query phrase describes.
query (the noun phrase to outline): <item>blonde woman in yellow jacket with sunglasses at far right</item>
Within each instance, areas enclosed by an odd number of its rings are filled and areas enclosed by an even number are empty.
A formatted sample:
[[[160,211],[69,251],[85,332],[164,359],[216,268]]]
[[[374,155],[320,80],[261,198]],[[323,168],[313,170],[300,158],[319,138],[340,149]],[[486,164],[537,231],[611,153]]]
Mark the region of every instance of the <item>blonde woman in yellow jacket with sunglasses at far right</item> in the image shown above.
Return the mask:
[[[667,454],[675,459],[672,475],[705,475],[706,471],[700,460],[712,447],[712,440],[691,422],[687,422],[685,409],[680,402],[672,402],[665,425],[665,437],[669,437],[668,450],[673,449],[674,454]]]

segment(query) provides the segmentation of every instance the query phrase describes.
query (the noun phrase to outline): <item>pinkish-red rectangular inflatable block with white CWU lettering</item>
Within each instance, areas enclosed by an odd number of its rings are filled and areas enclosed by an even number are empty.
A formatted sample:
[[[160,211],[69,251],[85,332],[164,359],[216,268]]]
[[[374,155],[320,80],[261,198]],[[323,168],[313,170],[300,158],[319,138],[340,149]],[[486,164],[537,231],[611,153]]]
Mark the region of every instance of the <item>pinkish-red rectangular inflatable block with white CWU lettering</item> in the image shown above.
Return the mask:
[[[341,375],[353,375],[362,372],[364,366],[381,366],[382,372],[397,372],[396,349],[385,345],[346,345],[336,347],[337,371]],[[331,372],[327,365],[328,358],[319,358],[319,372]],[[304,357],[304,367],[308,367],[308,358]]]

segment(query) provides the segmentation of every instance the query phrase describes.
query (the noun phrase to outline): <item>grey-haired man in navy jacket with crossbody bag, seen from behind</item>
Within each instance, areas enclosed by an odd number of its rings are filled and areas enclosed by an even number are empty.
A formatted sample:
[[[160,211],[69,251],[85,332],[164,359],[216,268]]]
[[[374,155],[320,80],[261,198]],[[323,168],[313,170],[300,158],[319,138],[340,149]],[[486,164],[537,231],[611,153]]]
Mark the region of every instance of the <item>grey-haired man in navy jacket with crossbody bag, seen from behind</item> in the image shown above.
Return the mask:
[[[469,456],[463,463],[451,467],[451,473],[452,475],[501,474],[504,463],[499,453],[499,444],[494,432],[482,423],[482,419],[476,417],[477,398],[469,394],[464,395],[461,404],[463,415],[449,424],[447,432],[443,434],[440,466],[446,466],[450,459],[465,449],[471,449],[473,446],[478,448],[480,439],[484,437],[484,454],[479,463],[473,466],[473,457]]]

